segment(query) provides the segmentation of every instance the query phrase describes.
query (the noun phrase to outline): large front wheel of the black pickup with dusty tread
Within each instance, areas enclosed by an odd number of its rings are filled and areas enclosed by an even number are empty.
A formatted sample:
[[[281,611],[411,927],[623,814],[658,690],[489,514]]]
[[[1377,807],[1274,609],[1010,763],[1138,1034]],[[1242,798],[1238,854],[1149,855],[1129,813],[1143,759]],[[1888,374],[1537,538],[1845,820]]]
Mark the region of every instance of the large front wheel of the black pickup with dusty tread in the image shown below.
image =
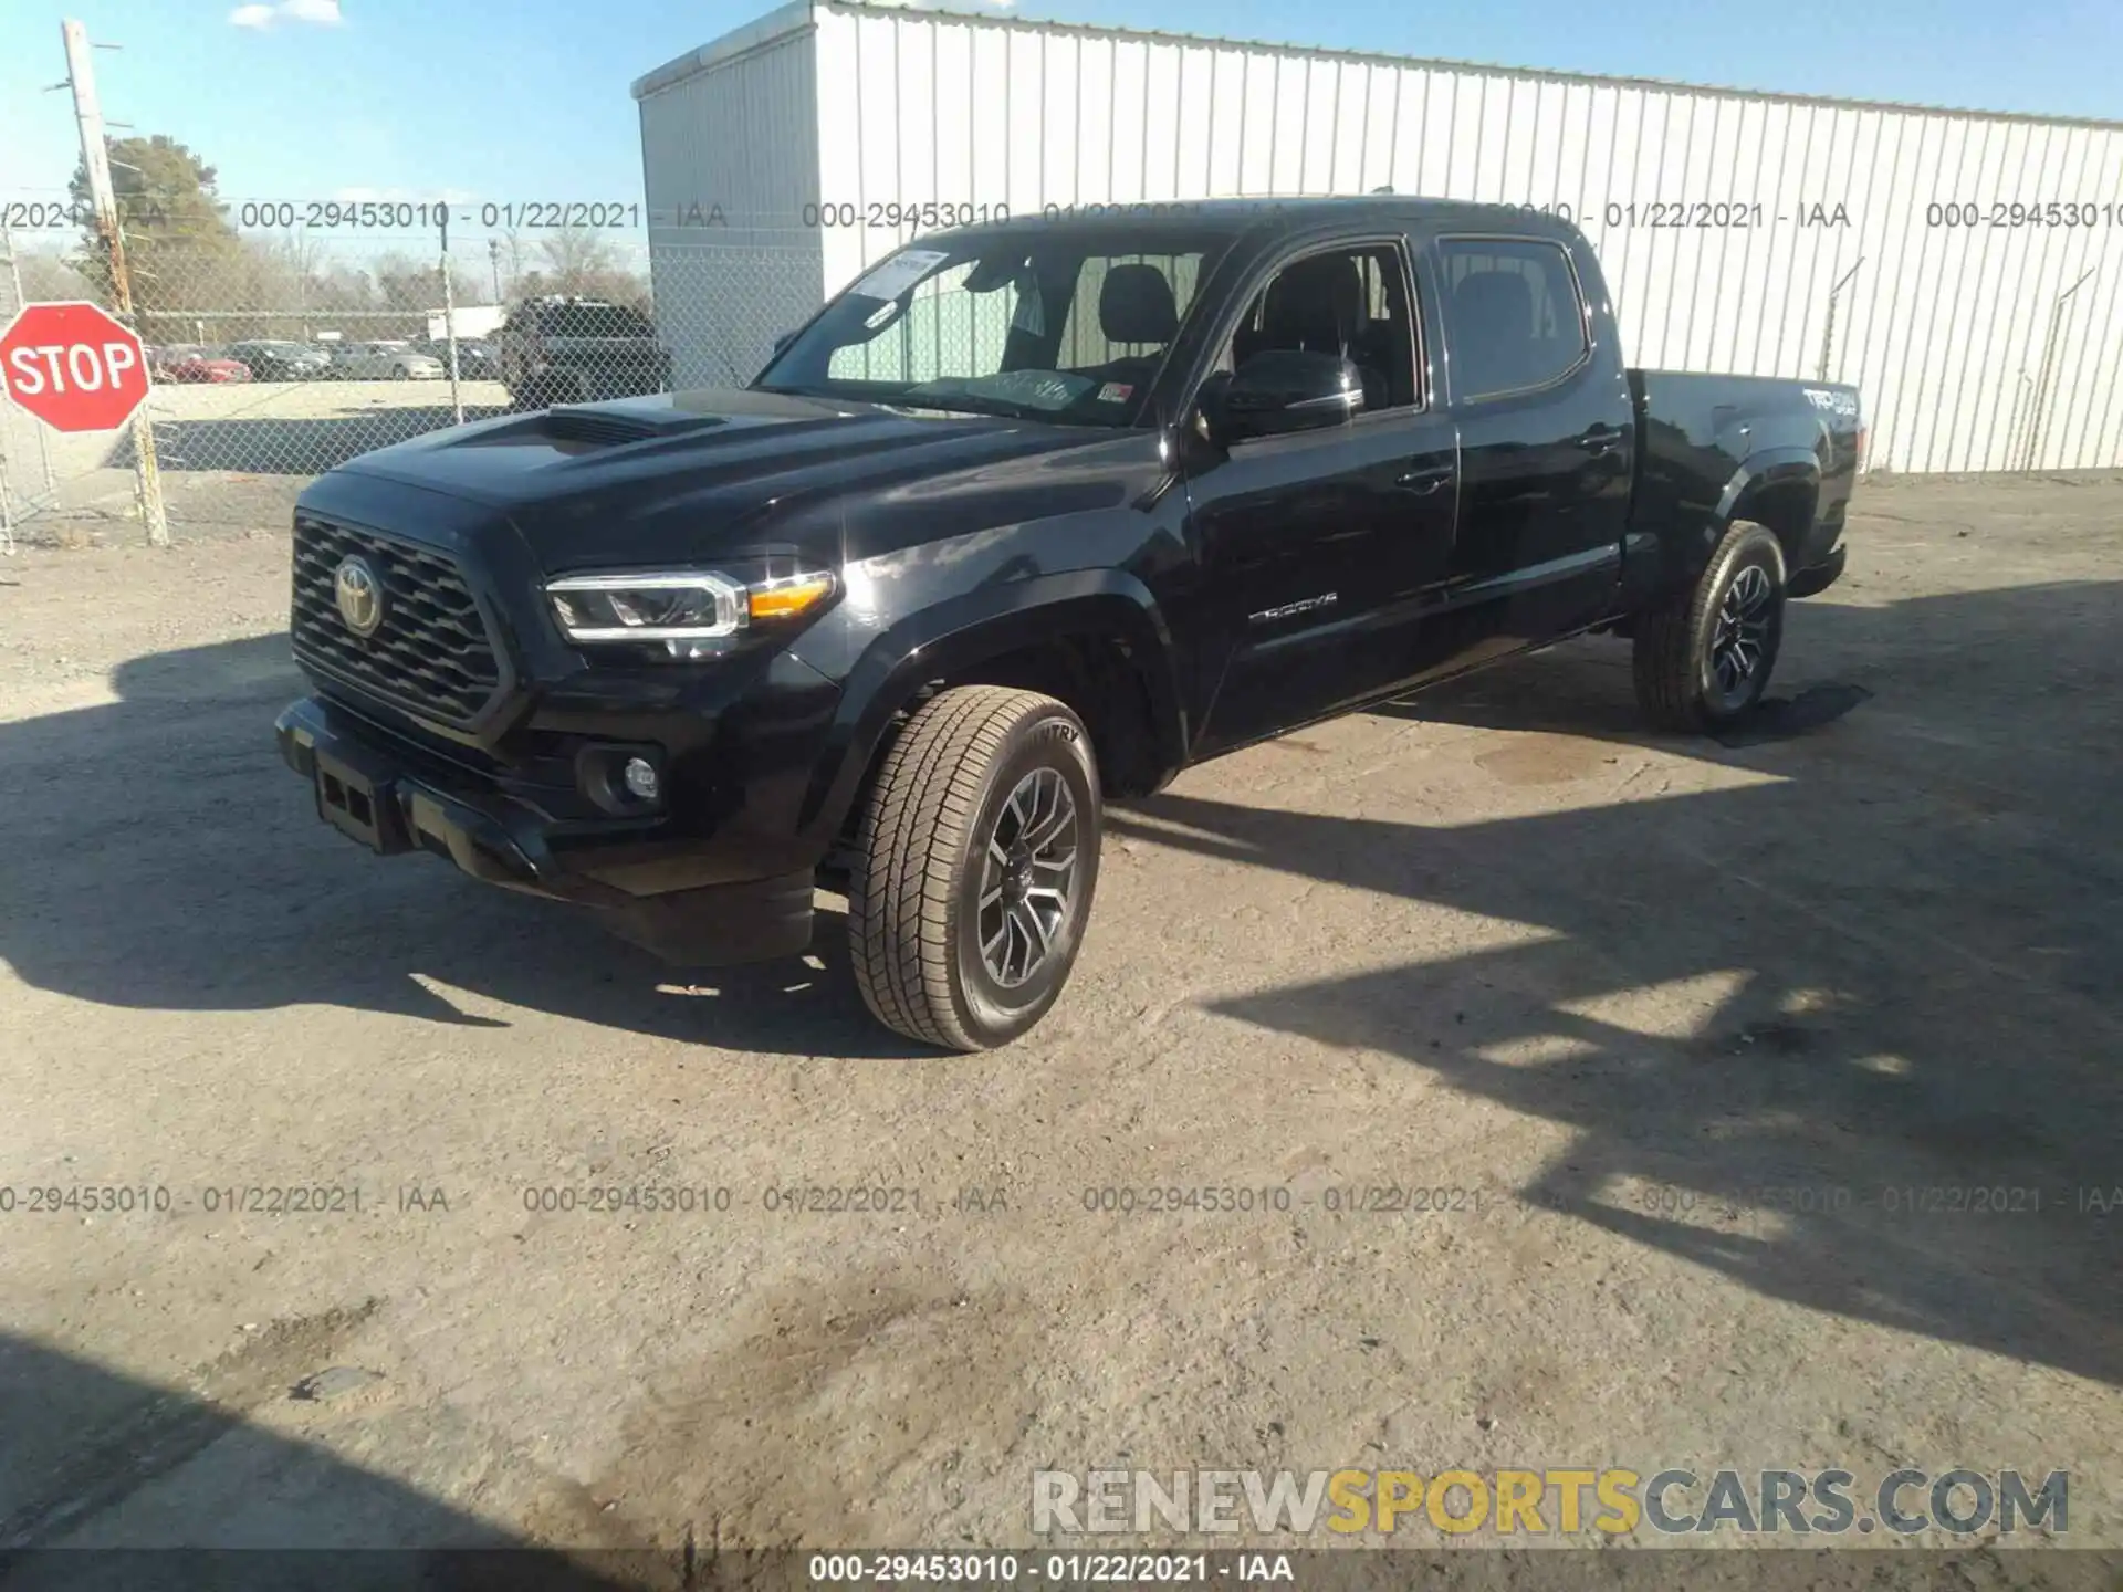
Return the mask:
[[[1076,964],[1098,849],[1091,737],[1068,707],[1006,686],[936,694],[862,811],[847,925],[864,1004],[947,1051],[1019,1038]]]

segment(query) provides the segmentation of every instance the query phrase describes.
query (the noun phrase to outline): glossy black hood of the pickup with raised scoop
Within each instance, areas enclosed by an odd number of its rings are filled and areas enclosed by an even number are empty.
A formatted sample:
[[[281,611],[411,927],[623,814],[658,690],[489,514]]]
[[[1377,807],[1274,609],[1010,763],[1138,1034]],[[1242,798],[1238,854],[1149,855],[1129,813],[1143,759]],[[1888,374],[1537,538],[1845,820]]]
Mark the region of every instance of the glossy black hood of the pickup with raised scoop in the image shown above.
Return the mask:
[[[728,388],[482,420],[340,469],[499,509],[543,569],[567,571],[728,552],[826,501],[934,492],[964,471],[1002,486],[998,465],[1115,435]]]

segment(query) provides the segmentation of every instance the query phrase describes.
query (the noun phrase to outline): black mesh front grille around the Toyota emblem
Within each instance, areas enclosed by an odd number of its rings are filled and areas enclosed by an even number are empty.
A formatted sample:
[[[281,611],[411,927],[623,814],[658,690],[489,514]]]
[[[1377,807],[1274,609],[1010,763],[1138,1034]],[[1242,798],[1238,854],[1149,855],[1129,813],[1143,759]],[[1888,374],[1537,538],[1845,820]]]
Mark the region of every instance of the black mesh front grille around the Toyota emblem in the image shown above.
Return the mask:
[[[340,565],[359,556],[384,594],[376,635],[346,624]],[[501,660],[456,563],[374,531],[295,518],[295,660],[393,707],[469,726],[501,692]]]

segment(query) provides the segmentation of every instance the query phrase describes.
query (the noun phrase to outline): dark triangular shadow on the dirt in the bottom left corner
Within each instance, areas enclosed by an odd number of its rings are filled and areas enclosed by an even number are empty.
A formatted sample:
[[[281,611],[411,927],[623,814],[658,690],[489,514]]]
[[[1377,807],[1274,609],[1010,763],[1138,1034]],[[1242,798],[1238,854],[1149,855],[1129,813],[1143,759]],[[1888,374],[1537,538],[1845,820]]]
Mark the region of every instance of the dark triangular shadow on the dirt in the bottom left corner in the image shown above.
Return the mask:
[[[299,1333],[297,1333],[299,1335]],[[287,1592],[480,1588],[620,1592],[679,1586],[675,1556],[614,1541],[588,1499],[569,1554],[253,1420],[312,1367],[259,1335],[176,1392],[0,1333],[0,1588],[8,1592]],[[280,1365],[287,1361],[287,1365]],[[350,1416],[359,1424],[361,1416]],[[531,1484],[533,1488],[537,1484]],[[554,1484],[563,1501],[567,1486]],[[707,1581],[686,1581],[705,1586]]]

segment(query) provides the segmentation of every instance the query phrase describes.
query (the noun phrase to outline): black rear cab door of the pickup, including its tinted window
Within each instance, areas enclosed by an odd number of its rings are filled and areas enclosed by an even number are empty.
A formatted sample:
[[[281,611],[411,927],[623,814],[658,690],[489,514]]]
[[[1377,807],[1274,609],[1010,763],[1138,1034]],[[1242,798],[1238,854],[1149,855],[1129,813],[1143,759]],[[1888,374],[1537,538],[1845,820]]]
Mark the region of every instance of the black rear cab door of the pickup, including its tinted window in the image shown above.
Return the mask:
[[[1560,240],[1439,236],[1422,276],[1461,444],[1435,675],[1611,611],[1635,412],[1605,291]]]

